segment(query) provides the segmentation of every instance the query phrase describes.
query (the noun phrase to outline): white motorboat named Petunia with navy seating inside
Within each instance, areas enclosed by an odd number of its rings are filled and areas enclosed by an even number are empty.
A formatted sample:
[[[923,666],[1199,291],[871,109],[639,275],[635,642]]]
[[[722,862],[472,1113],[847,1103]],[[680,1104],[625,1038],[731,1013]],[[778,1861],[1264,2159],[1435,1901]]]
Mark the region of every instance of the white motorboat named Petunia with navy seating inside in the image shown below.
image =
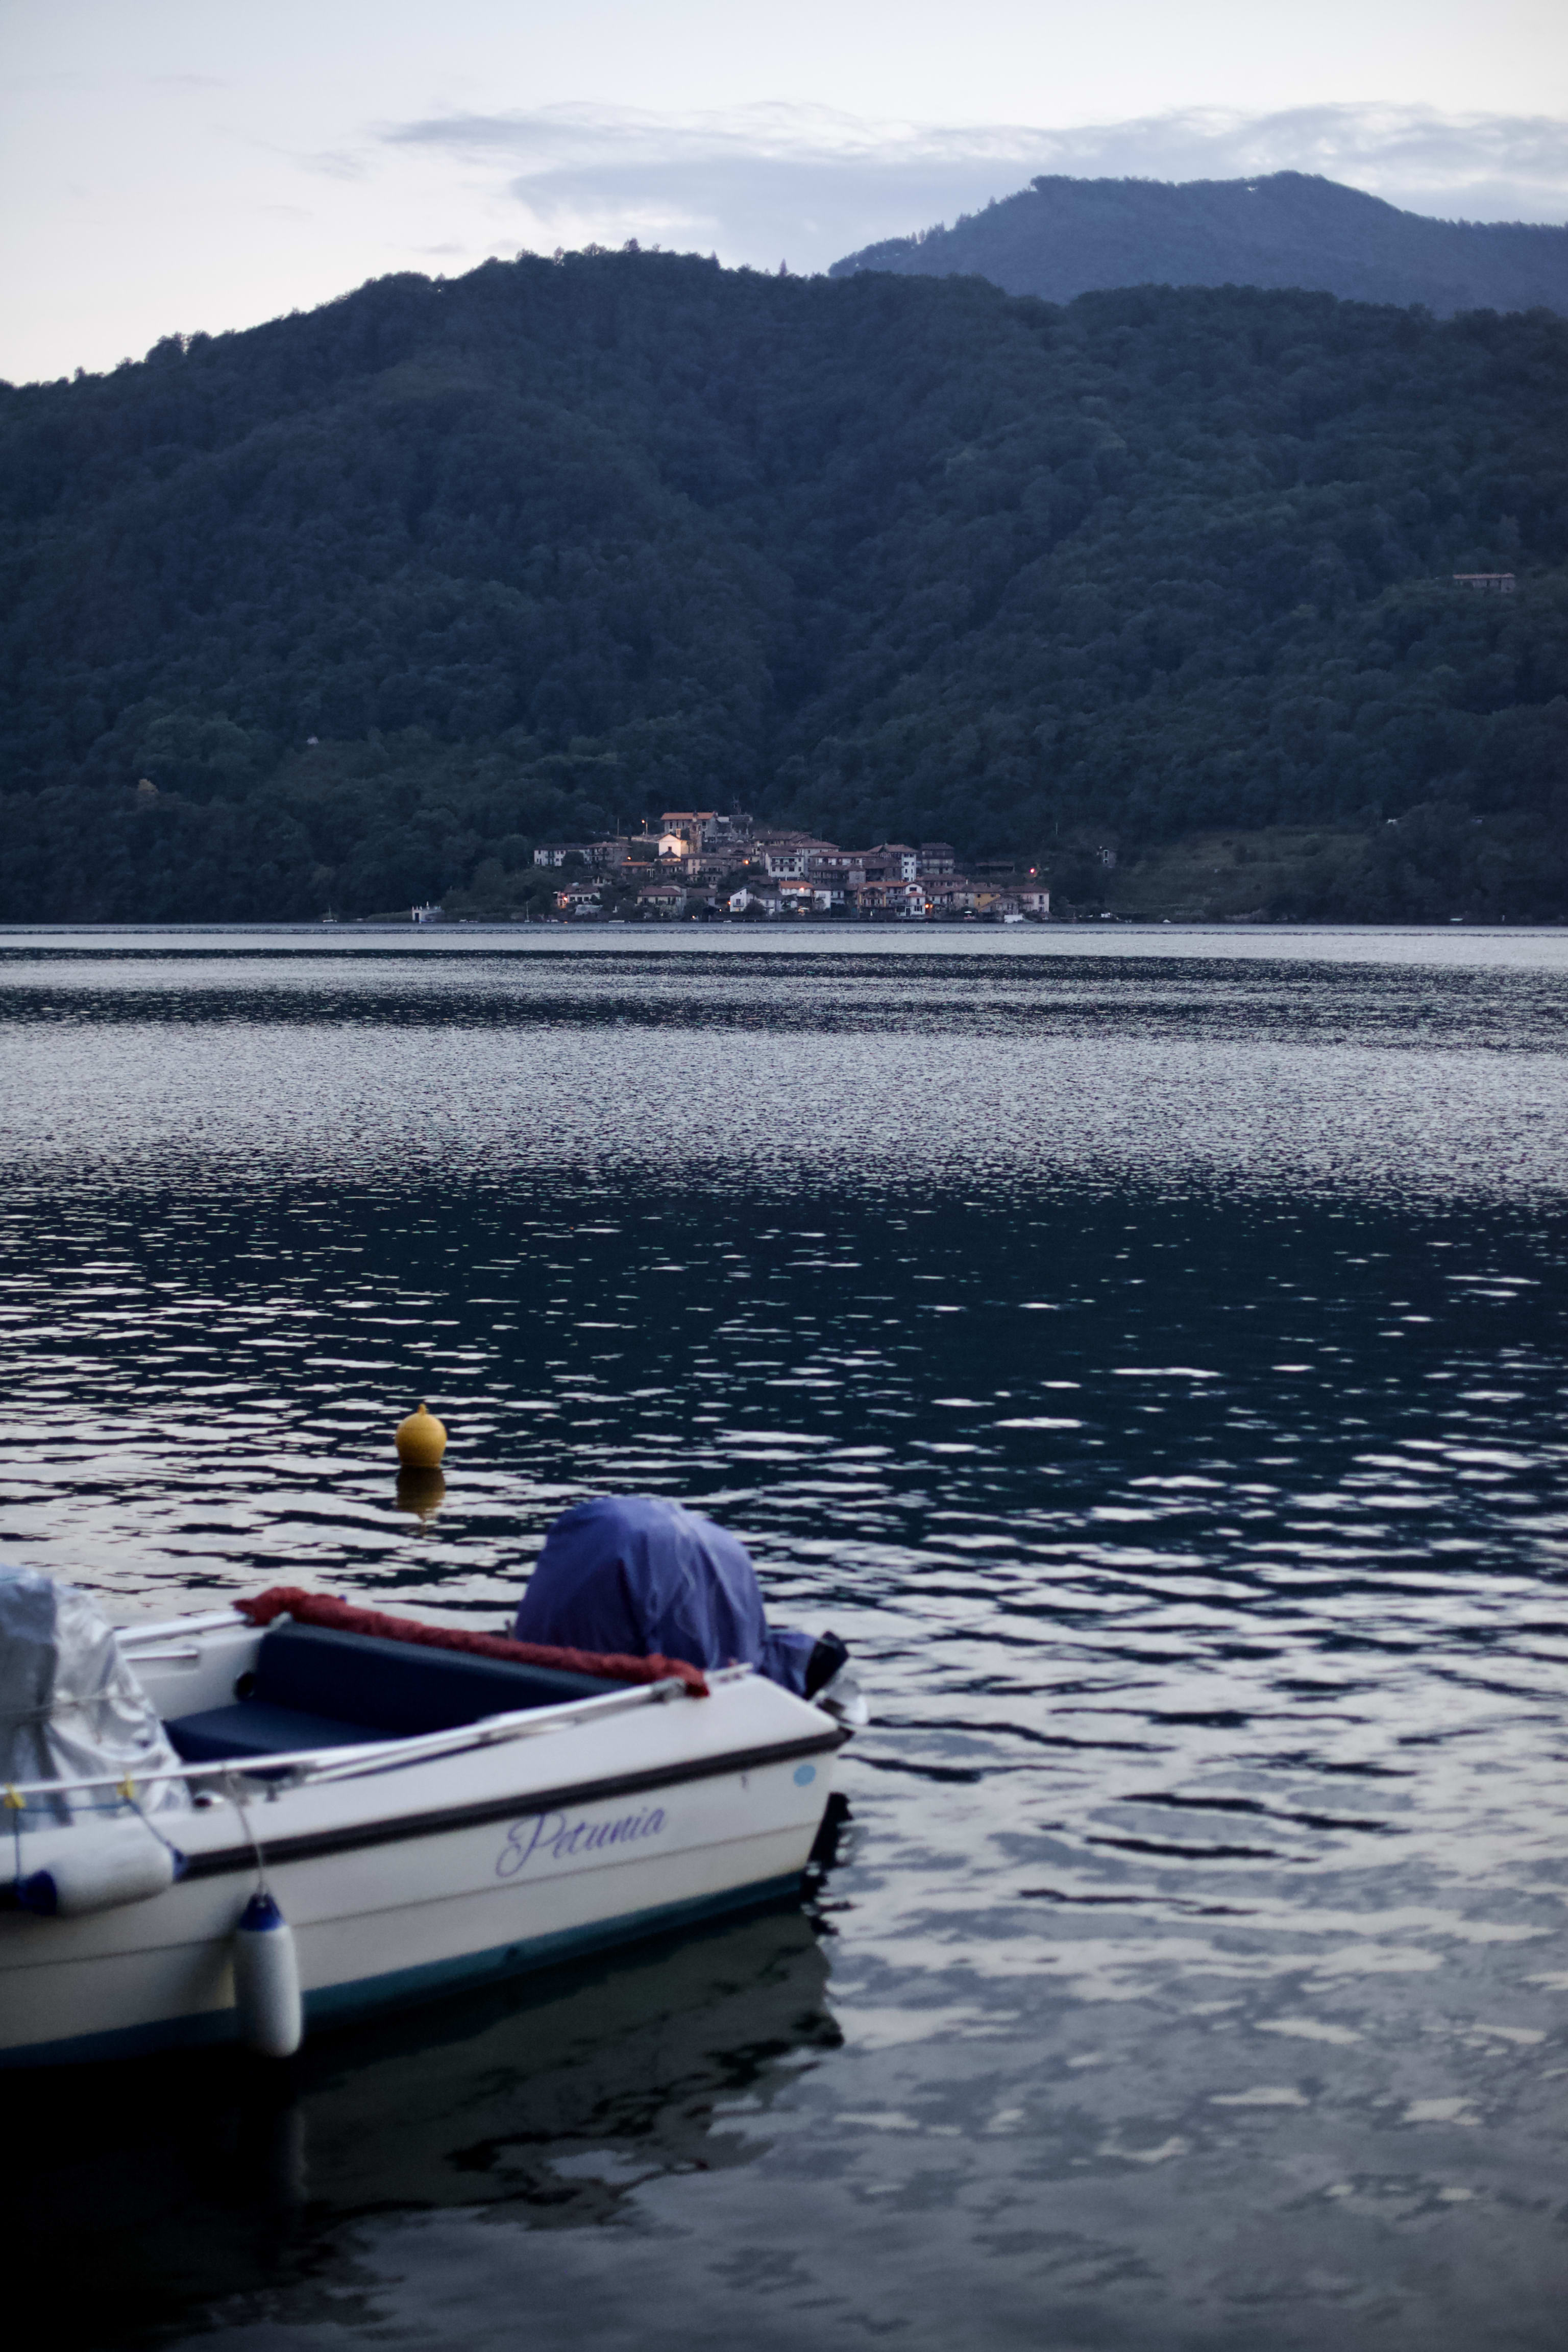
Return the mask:
[[[0,2065],[292,2046],[237,1933],[259,1884],[306,2025],[785,1893],[863,1719],[750,1668],[625,1684],[240,1609],[118,1661],[165,1762],[0,1790]]]

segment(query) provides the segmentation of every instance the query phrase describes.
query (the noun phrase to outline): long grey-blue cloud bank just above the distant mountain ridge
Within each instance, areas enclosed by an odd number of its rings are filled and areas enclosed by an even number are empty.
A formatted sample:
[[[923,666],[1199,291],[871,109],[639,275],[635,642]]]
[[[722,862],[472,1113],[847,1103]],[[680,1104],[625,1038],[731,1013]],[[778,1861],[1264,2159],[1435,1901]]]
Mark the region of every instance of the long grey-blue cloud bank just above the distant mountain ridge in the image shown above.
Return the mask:
[[[1251,179],[1321,172],[1408,212],[1472,221],[1568,219],[1568,122],[1441,115],[1422,106],[1220,108],[1138,122],[870,122],[827,106],[651,115],[545,106],[388,125],[381,143],[491,181],[491,205],[543,247],[715,249],[724,261],[825,268],[877,238],[952,221],[1037,172],[1079,179]]]

